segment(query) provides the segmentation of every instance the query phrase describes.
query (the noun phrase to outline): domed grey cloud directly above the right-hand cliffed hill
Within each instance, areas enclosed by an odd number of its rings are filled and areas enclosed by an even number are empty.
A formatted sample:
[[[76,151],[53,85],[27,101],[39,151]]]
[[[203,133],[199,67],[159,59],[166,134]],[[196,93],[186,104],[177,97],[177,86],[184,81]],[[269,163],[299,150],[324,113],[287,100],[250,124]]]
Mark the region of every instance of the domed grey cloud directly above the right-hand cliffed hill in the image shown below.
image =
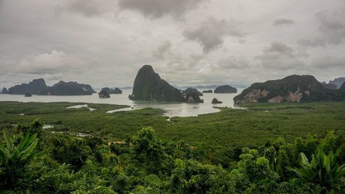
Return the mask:
[[[284,43],[274,42],[263,50],[263,54],[255,57],[259,59],[264,68],[275,68],[288,70],[297,66],[302,66],[300,55],[295,54],[295,50]]]

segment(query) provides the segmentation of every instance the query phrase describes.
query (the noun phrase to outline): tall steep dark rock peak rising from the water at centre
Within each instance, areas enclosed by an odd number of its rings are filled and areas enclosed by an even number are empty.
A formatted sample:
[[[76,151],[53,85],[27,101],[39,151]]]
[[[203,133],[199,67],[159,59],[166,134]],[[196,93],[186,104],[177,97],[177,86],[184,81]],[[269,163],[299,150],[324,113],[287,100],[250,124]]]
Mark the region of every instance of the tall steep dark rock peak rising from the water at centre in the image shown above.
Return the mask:
[[[133,100],[184,102],[181,92],[168,84],[153,70],[152,66],[143,66],[137,73],[133,84]]]

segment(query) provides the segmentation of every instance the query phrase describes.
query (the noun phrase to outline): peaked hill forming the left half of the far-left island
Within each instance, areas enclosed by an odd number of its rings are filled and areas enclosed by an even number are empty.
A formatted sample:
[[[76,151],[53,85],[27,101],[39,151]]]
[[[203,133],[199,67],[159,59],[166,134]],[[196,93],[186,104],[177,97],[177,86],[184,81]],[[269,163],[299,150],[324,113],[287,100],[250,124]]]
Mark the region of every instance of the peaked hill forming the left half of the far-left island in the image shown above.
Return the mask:
[[[8,88],[8,93],[10,95],[25,95],[26,93],[37,95],[47,87],[46,81],[44,81],[42,78],[39,78],[33,79],[28,84],[21,84]]]

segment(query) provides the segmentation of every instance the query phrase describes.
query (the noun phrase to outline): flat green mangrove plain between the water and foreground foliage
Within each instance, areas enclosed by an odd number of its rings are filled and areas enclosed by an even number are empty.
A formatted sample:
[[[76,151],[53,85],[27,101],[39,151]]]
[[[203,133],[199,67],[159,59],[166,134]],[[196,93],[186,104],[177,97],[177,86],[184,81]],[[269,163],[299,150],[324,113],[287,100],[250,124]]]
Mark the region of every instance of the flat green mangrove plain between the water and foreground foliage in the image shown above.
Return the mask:
[[[161,116],[161,110],[152,108],[111,114],[106,111],[127,106],[88,104],[97,110],[66,109],[76,104],[0,102],[0,126],[40,118],[55,125],[53,130],[92,133],[111,140],[126,139],[139,129],[152,126],[161,139],[184,139],[215,146],[257,146],[268,139],[293,140],[308,134],[324,135],[329,130],[345,137],[345,102],[247,104],[248,110],[221,108],[219,113],[173,117],[171,122]]]

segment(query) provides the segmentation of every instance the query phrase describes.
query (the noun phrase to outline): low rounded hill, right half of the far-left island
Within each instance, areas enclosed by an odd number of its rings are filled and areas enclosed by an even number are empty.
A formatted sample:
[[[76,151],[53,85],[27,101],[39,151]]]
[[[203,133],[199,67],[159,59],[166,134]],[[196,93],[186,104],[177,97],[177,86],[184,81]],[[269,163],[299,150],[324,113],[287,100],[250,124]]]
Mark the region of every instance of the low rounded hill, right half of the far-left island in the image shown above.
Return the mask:
[[[59,83],[39,91],[38,95],[92,95],[93,93],[96,93],[95,90],[88,84],[59,81]]]

